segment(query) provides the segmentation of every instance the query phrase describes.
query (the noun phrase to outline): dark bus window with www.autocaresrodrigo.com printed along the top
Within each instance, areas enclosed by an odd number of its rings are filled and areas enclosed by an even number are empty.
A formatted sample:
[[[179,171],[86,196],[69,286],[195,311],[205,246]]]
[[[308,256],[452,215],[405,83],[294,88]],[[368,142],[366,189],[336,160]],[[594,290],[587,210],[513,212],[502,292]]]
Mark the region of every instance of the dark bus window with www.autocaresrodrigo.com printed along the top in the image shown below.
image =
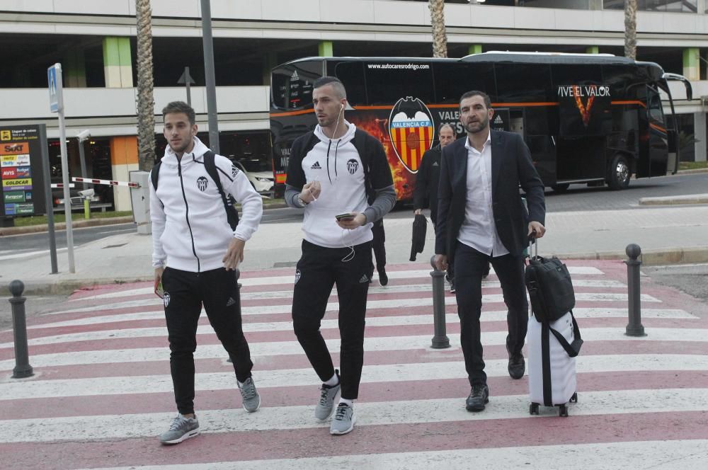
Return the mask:
[[[411,96],[433,102],[433,73],[430,62],[365,62],[369,105],[390,105]]]

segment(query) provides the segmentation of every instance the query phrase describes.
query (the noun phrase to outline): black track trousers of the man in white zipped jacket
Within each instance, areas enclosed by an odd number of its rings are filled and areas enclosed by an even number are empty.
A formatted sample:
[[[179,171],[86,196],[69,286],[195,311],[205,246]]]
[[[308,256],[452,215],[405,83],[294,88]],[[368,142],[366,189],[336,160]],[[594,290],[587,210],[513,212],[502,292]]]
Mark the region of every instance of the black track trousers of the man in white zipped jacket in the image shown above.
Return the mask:
[[[194,351],[202,304],[217,337],[234,363],[236,379],[251,377],[251,351],[241,328],[241,298],[234,271],[190,273],[166,268],[162,274],[170,370],[180,413],[194,413]]]

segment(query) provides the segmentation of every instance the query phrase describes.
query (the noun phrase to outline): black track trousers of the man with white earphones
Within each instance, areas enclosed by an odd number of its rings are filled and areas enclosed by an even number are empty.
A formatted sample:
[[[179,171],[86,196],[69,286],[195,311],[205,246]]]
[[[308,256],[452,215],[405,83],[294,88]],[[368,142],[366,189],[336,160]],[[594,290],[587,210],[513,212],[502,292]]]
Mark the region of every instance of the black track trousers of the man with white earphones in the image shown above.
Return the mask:
[[[371,242],[355,246],[354,258],[343,261],[350,252],[350,248],[324,248],[302,241],[292,296],[292,326],[319,379],[322,382],[331,379],[334,365],[319,328],[327,299],[336,284],[342,398],[353,400],[359,395],[364,364],[366,297],[373,273]]]

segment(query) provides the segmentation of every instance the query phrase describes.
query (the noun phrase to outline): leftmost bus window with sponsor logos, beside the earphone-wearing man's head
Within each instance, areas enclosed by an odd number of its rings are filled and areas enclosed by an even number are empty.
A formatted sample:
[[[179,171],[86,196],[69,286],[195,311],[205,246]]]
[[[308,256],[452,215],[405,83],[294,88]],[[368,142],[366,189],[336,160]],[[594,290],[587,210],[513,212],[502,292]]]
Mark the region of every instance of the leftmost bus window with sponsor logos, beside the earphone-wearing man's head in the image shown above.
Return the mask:
[[[280,109],[302,109],[312,105],[312,82],[322,76],[322,62],[297,62],[273,70],[273,105]]]

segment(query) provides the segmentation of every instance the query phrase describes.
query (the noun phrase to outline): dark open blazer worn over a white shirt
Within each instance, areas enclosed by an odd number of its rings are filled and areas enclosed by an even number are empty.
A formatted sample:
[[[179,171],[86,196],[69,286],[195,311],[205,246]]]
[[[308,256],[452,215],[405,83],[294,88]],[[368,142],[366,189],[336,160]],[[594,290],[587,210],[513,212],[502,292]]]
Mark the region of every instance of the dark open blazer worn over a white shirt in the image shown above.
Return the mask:
[[[467,203],[467,137],[442,149],[435,253],[452,262]],[[491,130],[492,211],[499,239],[509,253],[519,256],[527,246],[528,222],[544,224],[544,186],[519,134]],[[528,215],[519,186],[525,191]]]

